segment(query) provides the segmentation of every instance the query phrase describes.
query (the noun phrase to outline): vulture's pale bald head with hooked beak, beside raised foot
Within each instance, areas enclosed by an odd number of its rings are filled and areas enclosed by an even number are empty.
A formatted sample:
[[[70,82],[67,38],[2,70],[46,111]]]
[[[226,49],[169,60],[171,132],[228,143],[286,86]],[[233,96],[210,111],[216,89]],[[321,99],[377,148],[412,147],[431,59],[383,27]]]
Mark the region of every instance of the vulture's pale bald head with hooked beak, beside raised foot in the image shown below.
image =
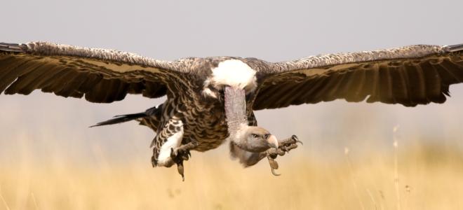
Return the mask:
[[[231,140],[244,151],[262,153],[269,148],[278,148],[278,140],[262,127],[241,125]]]

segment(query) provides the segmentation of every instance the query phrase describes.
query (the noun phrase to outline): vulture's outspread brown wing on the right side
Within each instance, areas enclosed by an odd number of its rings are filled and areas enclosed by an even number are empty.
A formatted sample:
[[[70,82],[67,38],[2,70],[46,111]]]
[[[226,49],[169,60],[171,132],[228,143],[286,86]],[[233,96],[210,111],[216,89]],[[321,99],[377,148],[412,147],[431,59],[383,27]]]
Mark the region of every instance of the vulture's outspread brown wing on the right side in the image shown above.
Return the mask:
[[[254,110],[334,99],[404,106],[443,103],[449,85],[463,82],[463,44],[410,45],[271,63],[260,79]]]

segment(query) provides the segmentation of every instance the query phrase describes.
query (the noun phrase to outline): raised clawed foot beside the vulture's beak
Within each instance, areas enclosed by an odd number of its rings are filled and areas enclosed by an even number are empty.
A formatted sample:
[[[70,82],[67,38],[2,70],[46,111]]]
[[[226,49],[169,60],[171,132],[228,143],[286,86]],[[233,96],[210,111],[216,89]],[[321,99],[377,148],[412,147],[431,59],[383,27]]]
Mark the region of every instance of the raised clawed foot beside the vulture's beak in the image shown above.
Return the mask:
[[[271,168],[271,174],[274,174],[274,176],[280,176],[281,174],[277,174],[275,172],[276,169],[278,169],[279,165],[278,162],[276,162],[276,157],[278,155],[283,156],[286,153],[288,153],[290,150],[293,150],[297,148],[297,143],[300,143],[302,145],[302,141],[299,141],[295,135],[288,139],[283,139],[279,141],[279,147],[278,148],[269,148],[269,150],[266,152],[267,153],[267,159],[269,160],[269,165]]]

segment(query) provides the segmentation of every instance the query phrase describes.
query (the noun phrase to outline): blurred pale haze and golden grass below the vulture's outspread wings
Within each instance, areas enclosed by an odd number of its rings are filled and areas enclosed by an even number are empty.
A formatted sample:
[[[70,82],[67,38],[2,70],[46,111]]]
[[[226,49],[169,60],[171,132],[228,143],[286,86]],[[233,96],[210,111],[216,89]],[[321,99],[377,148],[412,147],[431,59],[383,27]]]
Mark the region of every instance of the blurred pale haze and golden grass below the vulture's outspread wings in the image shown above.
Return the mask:
[[[84,129],[161,102],[139,98],[107,105],[39,93],[2,98],[0,209],[463,209],[461,101],[262,111],[260,125],[304,141],[279,158],[281,176],[267,162],[243,169],[225,147],[193,153],[182,182],[175,168],[150,166],[148,129]],[[391,132],[396,124],[400,138]]]

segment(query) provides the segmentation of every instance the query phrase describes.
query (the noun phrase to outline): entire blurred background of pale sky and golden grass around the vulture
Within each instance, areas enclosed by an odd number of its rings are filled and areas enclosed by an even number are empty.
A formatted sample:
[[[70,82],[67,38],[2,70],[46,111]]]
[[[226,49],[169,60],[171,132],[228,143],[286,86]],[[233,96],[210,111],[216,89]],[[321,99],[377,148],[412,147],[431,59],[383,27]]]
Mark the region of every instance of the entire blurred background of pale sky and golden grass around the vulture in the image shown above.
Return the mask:
[[[0,41],[112,48],[156,59],[269,62],[411,44],[463,43],[463,1],[5,1]],[[88,128],[163,102],[91,104],[0,95],[0,209],[462,209],[463,85],[445,104],[344,101],[257,111],[304,146],[243,169],[227,145],[192,153],[185,182],[152,168],[154,133]],[[395,142],[395,144],[394,144]],[[395,145],[395,146],[394,146]]]

